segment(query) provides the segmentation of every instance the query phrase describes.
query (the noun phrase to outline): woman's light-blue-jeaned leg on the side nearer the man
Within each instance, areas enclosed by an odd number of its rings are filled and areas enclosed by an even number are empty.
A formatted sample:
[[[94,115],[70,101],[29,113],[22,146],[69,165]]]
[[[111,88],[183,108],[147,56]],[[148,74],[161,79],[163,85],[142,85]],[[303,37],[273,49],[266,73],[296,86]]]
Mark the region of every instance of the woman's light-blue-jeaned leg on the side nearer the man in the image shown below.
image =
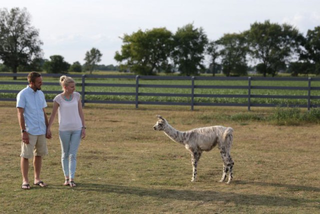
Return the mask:
[[[70,131],[59,131],[61,144],[61,163],[65,179],[69,178],[69,151],[70,151]]]

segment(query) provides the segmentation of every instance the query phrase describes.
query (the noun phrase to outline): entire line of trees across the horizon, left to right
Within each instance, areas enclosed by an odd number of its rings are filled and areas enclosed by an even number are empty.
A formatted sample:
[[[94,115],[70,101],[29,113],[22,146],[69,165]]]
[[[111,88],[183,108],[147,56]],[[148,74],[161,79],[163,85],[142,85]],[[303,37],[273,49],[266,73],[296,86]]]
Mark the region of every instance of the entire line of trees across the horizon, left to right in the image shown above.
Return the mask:
[[[121,51],[114,56],[119,67],[98,66],[102,54],[96,48],[85,53],[84,65],[70,65],[60,55],[44,60],[38,37],[25,8],[0,9],[0,61],[13,73],[19,69],[44,69],[48,73],[85,69],[91,74],[94,69],[107,67],[141,75],[180,72],[190,76],[204,72],[207,59],[213,75],[218,71],[226,76],[246,75],[248,64],[263,76],[284,70],[293,76],[320,74],[320,26],[308,30],[304,37],[288,24],[256,22],[247,31],[224,34],[216,41],[208,40],[203,29],[193,24],[178,28],[174,34],[166,28],[138,30],[121,38]]]

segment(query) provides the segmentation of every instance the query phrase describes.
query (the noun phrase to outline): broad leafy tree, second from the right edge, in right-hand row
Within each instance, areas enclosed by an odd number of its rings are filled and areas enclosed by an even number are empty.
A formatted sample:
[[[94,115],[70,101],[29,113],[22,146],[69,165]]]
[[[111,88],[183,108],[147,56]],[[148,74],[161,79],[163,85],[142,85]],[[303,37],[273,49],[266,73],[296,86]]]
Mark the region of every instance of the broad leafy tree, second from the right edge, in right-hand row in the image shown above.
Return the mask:
[[[290,25],[278,25],[265,21],[255,22],[246,35],[250,54],[259,61],[258,72],[276,75],[280,68],[298,53],[303,36]]]

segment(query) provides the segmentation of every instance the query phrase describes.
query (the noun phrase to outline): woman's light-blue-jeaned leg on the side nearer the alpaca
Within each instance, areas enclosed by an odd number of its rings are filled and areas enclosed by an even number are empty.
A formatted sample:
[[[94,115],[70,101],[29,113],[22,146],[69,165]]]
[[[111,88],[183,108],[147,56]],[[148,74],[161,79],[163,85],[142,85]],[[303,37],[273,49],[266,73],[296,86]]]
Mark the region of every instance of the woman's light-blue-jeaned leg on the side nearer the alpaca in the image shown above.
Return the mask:
[[[81,129],[72,131],[70,139],[69,149],[69,171],[70,171],[70,182],[73,181],[75,168],[76,168],[76,153],[78,151],[81,141]]]

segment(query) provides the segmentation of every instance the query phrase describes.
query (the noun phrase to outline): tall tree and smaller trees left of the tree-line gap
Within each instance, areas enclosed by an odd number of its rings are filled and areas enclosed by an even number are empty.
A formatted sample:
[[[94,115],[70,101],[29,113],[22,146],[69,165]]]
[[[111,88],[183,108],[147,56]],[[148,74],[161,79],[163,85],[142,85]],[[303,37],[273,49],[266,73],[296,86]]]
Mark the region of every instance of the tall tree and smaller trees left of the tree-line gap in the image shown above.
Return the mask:
[[[102,54],[96,48],[85,53],[84,65],[78,61],[72,65],[64,61],[60,55],[43,59],[38,30],[30,26],[30,15],[26,9],[13,8],[10,11],[0,10],[0,70],[42,71],[48,73],[66,73],[68,71],[81,72],[87,70],[92,73],[94,69],[118,70],[113,65],[99,65]]]

